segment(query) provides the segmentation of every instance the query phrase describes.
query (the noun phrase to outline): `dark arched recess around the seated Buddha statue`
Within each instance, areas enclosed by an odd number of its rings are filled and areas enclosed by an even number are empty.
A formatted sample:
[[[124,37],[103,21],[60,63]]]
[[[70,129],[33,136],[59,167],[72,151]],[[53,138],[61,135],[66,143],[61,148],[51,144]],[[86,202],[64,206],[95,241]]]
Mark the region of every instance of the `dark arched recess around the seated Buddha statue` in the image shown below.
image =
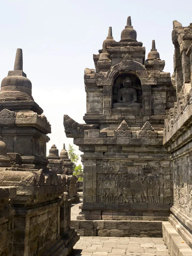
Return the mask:
[[[113,82],[113,89],[112,89],[112,105],[117,103],[117,95],[120,89],[122,89],[123,81],[125,78],[131,79],[131,87],[136,90],[137,92],[137,101],[138,103],[143,103],[143,91],[141,86],[141,81],[138,79],[134,74],[131,73],[122,73],[119,74]]]

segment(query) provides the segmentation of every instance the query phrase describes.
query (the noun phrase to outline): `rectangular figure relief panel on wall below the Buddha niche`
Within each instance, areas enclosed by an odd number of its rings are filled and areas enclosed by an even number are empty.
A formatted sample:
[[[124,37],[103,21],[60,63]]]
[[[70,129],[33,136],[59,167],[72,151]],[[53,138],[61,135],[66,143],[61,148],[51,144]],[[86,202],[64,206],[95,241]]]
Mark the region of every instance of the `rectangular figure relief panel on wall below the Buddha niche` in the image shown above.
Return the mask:
[[[140,169],[127,172],[126,166],[117,166],[124,173],[111,173],[112,166],[100,166],[97,177],[97,201],[100,203],[160,203],[160,178]],[[122,169],[123,168],[123,169]],[[151,171],[151,169],[150,169]],[[137,187],[137,189],[135,189]]]

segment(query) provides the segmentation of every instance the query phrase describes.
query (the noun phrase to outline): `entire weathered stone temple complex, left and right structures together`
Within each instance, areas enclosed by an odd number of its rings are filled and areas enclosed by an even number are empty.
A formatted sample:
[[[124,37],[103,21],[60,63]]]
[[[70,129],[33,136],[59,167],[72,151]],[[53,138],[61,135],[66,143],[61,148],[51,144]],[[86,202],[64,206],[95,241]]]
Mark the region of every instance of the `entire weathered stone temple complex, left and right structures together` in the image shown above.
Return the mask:
[[[192,256],[192,23],[173,21],[172,42],[170,76],[154,40],[145,56],[128,17],[121,40],[109,27],[85,69],[85,124],[64,115],[83,152],[75,221],[73,165],[65,146],[46,157],[51,126],[17,49],[0,89],[0,256],[69,256],[79,235],[163,237],[169,253],[158,256]]]

